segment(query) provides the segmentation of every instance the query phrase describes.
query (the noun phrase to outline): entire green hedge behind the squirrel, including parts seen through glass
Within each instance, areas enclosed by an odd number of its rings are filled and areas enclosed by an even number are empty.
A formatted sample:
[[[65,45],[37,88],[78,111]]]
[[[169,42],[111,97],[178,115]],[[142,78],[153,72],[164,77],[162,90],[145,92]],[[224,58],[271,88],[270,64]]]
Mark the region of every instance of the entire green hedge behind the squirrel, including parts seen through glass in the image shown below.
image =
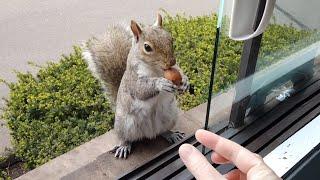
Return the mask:
[[[194,94],[178,97],[184,110],[206,101],[215,25],[215,15],[165,18],[164,27],[175,40],[177,61],[195,89]],[[299,48],[292,44],[302,38],[310,36],[310,41],[315,41],[312,34],[270,25],[264,34],[259,68]],[[282,53],[274,56],[280,49]],[[222,35],[215,92],[236,81],[241,52],[241,42]],[[7,83],[11,91],[3,116],[12,130],[15,154],[26,167],[41,165],[112,128],[114,114],[100,84],[86,68],[80,49],[75,48],[58,63],[41,67],[36,76],[18,73],[17,82]]]

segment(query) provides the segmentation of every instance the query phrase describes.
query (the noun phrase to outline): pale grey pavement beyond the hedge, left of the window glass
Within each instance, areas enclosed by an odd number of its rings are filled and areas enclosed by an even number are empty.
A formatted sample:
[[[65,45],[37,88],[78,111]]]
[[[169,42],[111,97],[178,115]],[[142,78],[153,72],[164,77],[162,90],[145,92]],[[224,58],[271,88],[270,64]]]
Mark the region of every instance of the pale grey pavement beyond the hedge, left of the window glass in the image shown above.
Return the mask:
[[[14,81],[13,70],[32,70],[69,53],[72,45],[102,33],[107,24],[135,19],[152,23],[159,8],[170,14],[203,15],[216,11],[218,0],[10,0],[0,2],[0,78]],[[8,88],[0,85],[0,97]],[[0,107],[3,101],[0,101]],[[0,124],[1,124],[0,120]],[[8,145],[0,126],[0,154]]]

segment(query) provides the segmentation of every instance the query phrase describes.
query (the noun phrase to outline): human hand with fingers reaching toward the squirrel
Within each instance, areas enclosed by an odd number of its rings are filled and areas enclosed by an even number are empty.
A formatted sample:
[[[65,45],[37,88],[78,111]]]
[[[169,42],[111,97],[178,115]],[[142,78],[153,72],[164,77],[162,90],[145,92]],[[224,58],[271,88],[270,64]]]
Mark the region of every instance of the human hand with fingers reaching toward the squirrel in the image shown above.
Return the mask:
[[[198,149],[190,144],[183,144],[179,148],[179,155],[196,179],[280,179],[259,155],[235,142],[205,130],[198,130],[196,138],[201,144],[215,151],[211,155],[214,163],[233,163],[238,168],[222,175]]]

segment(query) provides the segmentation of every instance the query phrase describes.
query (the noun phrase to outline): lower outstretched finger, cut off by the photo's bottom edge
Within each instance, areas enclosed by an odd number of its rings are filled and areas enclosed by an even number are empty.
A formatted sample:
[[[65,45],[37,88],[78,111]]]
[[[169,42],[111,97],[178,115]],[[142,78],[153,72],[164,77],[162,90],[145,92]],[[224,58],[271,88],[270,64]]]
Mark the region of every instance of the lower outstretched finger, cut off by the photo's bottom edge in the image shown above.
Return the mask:
[[[224,177],[211,166],[198,149],[192,145],[181,145],[179,148],[179,155],[183,163],[196,179],[224,179]]]

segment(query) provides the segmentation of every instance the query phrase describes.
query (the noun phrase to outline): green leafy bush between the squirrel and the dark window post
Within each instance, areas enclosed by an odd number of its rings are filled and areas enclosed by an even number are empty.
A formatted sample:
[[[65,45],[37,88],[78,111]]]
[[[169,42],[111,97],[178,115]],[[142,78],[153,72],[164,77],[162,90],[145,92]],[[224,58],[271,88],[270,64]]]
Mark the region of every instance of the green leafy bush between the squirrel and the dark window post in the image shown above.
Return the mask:
[[[185,17],[168,16],[164,28],[171,32],[178,64],[194,85],[194,93],[178,97],[184,110],[195,107],[207,99],[208,84],[213,55],[213,43],[216,34],[216,15]],[[237,78],[242,43],[222,37],[217,62],[215,92],[226,88]]]

